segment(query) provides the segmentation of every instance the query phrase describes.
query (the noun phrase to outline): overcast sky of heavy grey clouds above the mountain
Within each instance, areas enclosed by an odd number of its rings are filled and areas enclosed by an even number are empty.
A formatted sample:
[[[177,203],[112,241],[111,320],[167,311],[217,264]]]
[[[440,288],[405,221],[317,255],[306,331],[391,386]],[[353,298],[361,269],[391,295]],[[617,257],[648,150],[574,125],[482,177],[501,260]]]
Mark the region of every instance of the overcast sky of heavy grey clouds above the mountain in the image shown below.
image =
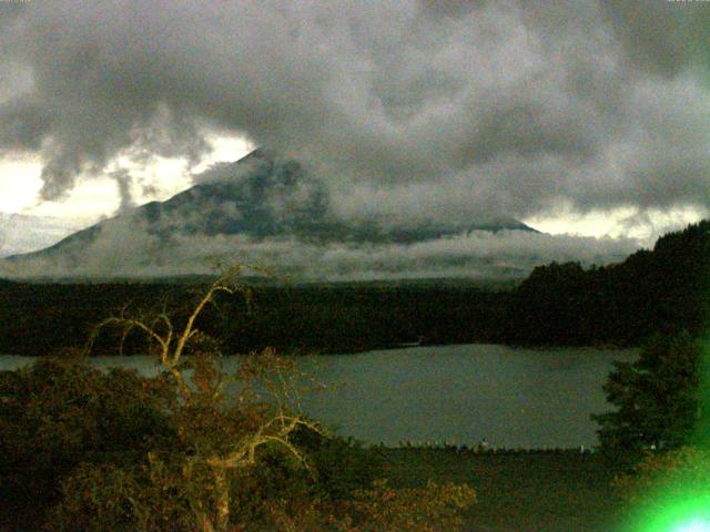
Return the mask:
[[[266,145],[345,217],[648,237],[710,207],[709,28],[701,1],[0,1],[0,211],[112,214]]]

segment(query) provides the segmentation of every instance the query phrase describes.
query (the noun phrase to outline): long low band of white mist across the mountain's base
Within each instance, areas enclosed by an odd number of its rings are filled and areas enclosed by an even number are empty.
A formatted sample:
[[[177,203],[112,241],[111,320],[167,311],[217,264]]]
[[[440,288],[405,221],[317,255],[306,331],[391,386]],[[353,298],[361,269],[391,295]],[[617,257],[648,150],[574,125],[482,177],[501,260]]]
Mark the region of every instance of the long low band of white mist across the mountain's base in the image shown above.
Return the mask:
[[[211,273],[217,263],[264,267],[295,280],[407,277],[516,278],[551,260],[585,265],[619,262],[636,241],[551,236],[525,231],[471,232],[417,244],[315,244],[290,237],[173,233],[169,242],[135,222],[104,224],[95,242],[78,243],[59,256],[4,265],[4,275],[152,277]]]

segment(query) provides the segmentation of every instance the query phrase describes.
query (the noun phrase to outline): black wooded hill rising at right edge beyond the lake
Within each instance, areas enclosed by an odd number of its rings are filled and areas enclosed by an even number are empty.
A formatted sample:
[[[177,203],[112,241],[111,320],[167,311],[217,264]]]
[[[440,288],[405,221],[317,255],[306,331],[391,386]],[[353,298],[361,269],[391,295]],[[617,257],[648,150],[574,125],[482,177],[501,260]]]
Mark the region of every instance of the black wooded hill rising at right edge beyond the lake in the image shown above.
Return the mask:
[[[709,325],[710,221],[658,239],[620,264],[535,268],[509,301],[506,339],[525,344],[638,345]]]

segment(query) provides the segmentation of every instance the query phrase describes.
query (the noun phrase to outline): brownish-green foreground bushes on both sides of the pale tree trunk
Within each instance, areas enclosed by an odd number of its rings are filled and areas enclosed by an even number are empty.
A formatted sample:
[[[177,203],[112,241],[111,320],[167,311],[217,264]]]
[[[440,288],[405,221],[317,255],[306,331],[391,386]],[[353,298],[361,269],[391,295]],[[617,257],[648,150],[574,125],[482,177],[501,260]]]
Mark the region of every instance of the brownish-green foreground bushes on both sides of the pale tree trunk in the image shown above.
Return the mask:
[[[224,436],[223,419],[211,424],[204,411],[172,410],[166,386],[165,376],[104,374],[72,358],[6,374],[1,489],[10,499],[2,510],[24,507],[58,531],[210,530],[220,492],[199,458]],[[189,424],[197,420],[205,430]],[[351,440],[308,428],[292,440],[304,462],[270,446],[229,471],[229,530],[456,530],[475,501],[465,484],[393,489],[376,480],[376,451]]]

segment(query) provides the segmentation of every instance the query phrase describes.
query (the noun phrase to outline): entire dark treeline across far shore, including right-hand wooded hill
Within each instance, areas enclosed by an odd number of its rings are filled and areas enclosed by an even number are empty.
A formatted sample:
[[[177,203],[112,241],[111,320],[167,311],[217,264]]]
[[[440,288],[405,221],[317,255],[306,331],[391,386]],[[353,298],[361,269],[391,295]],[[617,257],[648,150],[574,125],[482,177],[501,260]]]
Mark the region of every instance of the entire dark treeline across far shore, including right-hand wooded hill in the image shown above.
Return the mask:
[[[199,287],[195,287],[199,288]],[[92,327],[131,309],[189,308],[184,284],[0,282],[0,352],[81,346]],[[710,221],[658,239],[623,263],[539,266],[517,287],[464,282],[257,285],[252,305],[223,297],[199,326],[225,354],[273,346],[351,352],[402,344],[638,345],[653,334],[698,335],[710,309]],[[94,352],[115,354],[115,338]],[[103,349],[103,350],[102,350]],[[124,352],[144,352],[139,335]]]

